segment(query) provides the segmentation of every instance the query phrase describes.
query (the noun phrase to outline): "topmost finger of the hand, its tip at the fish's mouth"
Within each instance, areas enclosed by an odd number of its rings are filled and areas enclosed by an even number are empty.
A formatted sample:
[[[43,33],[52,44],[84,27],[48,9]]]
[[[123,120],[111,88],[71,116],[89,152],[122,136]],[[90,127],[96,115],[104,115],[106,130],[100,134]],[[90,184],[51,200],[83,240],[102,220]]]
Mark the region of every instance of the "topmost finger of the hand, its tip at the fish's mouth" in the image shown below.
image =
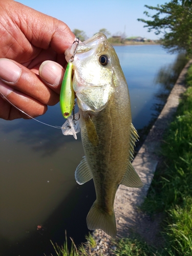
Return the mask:
[[[11,7],[14,8],[15,13],[18,15],[15,20],[17,25],[22,29],[33,46],[42,49],[51,47],[55,52],[61,54],[75,40],[73,32],[61,20],[20,3],[13,2]]]

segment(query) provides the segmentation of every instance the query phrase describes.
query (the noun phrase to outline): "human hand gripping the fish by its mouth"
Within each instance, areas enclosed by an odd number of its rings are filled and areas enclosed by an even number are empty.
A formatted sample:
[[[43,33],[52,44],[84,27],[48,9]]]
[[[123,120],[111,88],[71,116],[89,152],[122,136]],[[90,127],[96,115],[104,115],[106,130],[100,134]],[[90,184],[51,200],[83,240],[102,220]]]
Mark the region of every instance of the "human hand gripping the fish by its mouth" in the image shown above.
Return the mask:
[[[44,114],[59,101],[64,52],[75,35],[60,20],[12,0],[0,1],[0,35],[0,92],[30,116]],[[0,97],[0,118],[21,117],[28,118]]]

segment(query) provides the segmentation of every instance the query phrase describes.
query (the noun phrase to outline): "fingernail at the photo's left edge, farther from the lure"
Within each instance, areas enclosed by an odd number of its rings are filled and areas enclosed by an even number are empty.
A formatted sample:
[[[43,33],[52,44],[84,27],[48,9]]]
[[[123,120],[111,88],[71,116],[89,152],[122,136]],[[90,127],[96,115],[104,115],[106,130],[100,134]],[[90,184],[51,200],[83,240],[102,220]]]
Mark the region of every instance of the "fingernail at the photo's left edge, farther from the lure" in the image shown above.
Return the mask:
[[[0,78],[4,81],[15,83],[21,71],[22,70],[10,59],[0,59]]]

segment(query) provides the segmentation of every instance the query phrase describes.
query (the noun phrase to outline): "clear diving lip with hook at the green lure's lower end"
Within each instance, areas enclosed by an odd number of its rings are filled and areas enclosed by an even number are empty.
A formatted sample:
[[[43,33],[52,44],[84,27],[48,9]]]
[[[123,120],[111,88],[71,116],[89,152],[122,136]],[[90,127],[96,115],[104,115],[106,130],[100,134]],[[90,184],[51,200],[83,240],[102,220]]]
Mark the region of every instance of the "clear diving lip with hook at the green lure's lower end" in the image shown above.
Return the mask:
[[[77,139],[76,134],[80,132],[79,112],[75,114],[75,120],[73,120],[73,115],[68,117],[61,126],[61,131],[63,135],[73,135]]]

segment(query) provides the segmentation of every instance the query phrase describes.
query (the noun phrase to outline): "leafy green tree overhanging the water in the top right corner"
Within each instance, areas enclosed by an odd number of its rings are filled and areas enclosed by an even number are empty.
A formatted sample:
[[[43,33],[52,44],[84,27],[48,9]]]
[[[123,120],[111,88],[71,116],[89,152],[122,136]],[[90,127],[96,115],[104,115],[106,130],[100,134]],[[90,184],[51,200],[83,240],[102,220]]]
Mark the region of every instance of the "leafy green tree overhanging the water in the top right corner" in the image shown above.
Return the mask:
[[[161,44],[169,52],[185,50],[192,55],[192,1],[172,0],[161,6],[145,7],[157,11],[155,15],[144,12],[152,20],[138,19],[147,24],[144,27],[148,27],[148,32],[155,30],[156,35],[163,34]]]

